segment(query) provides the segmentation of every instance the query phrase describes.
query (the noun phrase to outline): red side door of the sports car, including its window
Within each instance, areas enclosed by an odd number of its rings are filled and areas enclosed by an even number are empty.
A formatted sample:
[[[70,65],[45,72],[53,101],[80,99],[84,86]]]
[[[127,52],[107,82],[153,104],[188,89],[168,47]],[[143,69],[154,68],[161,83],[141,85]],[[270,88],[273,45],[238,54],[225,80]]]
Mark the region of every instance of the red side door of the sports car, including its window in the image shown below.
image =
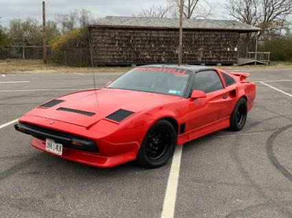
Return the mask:
[[[201,90],[206,98],[188,102],[188,131],[194,131],[219,120],[220,111],[225,109],[223,101],[226,90],[216,70],[202,70],[196,73],[192,90]]]

